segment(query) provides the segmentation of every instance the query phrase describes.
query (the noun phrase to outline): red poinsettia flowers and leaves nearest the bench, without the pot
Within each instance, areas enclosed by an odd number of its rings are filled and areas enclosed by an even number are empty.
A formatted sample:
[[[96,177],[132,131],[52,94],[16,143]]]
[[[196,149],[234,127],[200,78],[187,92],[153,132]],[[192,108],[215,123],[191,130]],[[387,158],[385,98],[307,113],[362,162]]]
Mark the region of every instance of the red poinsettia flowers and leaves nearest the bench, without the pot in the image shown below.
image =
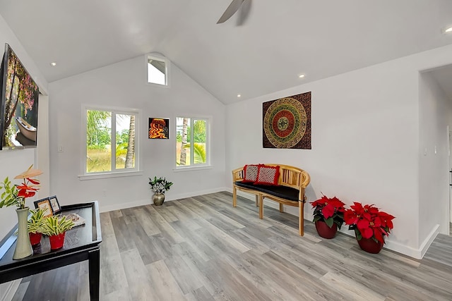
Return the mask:
[[[340,226],[344,223],[345,204],[337,197],[328,198],[323,195],[320,199],[310,202],[314,209],[314,223],[324,221],[328,227],[333,227],[333,223]]]

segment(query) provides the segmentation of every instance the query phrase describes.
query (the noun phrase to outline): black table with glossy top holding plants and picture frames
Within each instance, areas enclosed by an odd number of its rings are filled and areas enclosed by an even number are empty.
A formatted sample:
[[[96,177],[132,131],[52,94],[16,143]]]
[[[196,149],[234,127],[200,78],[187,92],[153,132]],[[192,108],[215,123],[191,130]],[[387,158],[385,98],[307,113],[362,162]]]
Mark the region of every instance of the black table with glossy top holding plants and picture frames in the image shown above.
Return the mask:
[[[32,256],[13,260],[16,242],[0,260],[0,283],[13,281],[43,271],[57,269],[61,266],[75,264],[88,259],[90,277],[90,298],[99,300],[100,249],[102,242],[100,233],[100,216],[97,201],[85,204],[73,204],[61,207],[61,214],[76,213],[85,219],[85,224],[66,231],[64,247],[50,250],[49,238],[42,236],[41,244],[33,248]],[[0,247],[11,240],[16,231],[14,227],[1,240]]]

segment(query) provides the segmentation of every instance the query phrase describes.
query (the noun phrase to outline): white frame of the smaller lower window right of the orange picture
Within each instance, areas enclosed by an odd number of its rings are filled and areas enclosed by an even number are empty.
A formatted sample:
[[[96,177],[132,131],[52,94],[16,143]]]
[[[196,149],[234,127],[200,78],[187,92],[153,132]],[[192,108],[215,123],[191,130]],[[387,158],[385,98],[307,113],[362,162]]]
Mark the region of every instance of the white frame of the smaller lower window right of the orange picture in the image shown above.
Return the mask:
[[[194,171],[198,169],[208,169],[212,168],[210,165],[211,157],[210,154],[210,129],[212,128],[212,117],[211,116],[192,116],[191,114],[177,114],[174,116],[174,137],[177,135],[177,118],[190,118],[190,137],[194,137],[193,135],[193,121],[194,120],[203,120],[206,121],[206,163],[203,164],[194,164],[194,152],[192,150],[193,146],[190,149],[190,165],[189,166],[179,166],[176,164],[177,159],[177,139],[174,139],[174,168],[173,171]],[[193,154],[193,155],[192,155]]]

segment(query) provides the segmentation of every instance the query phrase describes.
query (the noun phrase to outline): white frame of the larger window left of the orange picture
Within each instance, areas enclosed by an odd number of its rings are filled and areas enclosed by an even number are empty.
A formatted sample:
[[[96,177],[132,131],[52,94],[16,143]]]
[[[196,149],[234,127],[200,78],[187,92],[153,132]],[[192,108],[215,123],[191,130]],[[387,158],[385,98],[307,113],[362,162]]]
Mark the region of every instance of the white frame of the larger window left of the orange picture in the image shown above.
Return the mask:
[[[114,167],[115,164],[112,164],[112,171],[99,171],[99,172],[93,172],[88,173],[86,171],[86,157],[87,157],[87,124],[86,124],[86,112],[88,110],[91,111],[109,111],[114,114],[112,114],[112,146],[116,145],[116,115],[117,114],[127,114],[127,115],[135,115],[135,167],[134,168],[121,168],[116,169]],[[141,145],[141,110],[138,109],[128,109],[128,108],[118,108],[118,107],[112,107],[112,106],[93,106],[88,104],[82,105],[82,113],[81,113],[81,120],[82,120],[82,159],[81,159],[81,174],[78,176],[80,180],[91,180],[91,179],[97,179],[97,178],[117,178],[117,177],[124,177],[124,176],[139,176],[143,174],[143,171],[141,171],[141,152],[140,152],[140,145]],[[112,154],[112,161],[114,161],[116,155]],[[114,168],[113,168],[114,167]]]

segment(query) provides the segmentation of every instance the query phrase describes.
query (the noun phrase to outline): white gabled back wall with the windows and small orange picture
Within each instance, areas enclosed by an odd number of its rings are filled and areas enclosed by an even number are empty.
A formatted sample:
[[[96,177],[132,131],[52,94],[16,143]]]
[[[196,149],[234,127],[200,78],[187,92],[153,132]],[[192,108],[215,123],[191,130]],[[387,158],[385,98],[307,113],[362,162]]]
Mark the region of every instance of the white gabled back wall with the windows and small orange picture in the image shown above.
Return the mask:
[[[172,65],[171,87],[148,85],[144,56],[52,82],[50,90],[51,191],[61,204],[96,199],[100,209],[150,204],[148,178],[165,176],[174,182],[167,200],[224,190],[225,106]],[[79,180],[83,160],[82,104],[141,109],[139,125],[141,176]],[[175,117],[211,116],[212,168],[175,172]],[[149,140],[148,118],[170,118],[169,140]],[[61,146],[64,152],[57,152]],[[103,191],[107,195],[103,195]]]

